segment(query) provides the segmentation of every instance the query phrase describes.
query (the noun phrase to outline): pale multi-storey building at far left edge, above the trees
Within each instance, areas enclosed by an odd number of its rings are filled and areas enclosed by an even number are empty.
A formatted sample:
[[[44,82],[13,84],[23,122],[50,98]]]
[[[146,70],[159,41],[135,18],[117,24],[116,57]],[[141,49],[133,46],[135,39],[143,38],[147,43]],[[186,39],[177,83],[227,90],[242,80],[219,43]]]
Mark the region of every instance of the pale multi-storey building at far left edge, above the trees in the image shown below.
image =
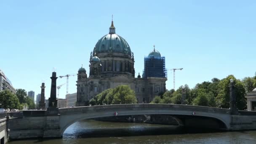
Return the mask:
[[[0,91],[10,90],[13,93],[16,93],[16,89],[13,88],[11,81],[5,76],[3,71],[0,69]]]

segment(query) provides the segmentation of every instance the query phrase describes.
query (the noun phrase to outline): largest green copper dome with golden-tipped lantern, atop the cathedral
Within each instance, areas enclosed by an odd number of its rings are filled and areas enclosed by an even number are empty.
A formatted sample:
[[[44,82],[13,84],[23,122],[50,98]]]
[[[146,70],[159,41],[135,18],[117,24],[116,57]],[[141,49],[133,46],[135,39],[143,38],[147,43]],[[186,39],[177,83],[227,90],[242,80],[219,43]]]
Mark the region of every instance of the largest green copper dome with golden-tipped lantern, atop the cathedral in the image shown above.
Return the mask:
[[[96,43],[93,53],[124,53],[131,56],[131,48],[125,39],[115,34],[115,27],[112,21],[109,27],[109,34],[104,35]]]

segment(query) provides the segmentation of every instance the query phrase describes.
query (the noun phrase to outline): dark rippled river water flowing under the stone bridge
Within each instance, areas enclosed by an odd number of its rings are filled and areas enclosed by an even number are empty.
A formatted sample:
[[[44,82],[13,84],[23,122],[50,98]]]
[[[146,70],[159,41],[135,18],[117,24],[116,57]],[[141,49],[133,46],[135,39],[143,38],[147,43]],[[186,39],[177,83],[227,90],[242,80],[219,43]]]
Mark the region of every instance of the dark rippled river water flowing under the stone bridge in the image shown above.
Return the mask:
[[[27,139],[8,144],[256,144],[256,131],[184,132],[173,125],[83,120],[61,139]]]

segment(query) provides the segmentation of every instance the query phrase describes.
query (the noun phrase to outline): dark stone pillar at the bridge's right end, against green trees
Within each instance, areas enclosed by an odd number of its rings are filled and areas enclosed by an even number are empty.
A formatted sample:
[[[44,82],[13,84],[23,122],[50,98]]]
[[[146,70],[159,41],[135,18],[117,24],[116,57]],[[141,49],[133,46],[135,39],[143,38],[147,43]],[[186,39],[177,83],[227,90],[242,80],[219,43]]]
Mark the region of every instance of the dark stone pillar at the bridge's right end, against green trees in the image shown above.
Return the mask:
[[[236,107],[235,83],[233,79],[230,79],[229,83],[229,107],[231,115],[238,115],[238,110]]]

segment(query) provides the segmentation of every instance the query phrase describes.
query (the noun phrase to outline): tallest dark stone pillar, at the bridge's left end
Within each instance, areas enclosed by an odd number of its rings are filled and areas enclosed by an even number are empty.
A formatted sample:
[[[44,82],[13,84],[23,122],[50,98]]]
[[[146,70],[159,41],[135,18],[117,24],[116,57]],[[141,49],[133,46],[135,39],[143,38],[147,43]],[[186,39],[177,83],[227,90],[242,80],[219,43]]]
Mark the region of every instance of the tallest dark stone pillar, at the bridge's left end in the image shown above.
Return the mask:
[[[51,95],[49,98],[49,108],[56,108],[57,107],[57,99],[56,99],[56,72],[52,73],[51,77]]]

